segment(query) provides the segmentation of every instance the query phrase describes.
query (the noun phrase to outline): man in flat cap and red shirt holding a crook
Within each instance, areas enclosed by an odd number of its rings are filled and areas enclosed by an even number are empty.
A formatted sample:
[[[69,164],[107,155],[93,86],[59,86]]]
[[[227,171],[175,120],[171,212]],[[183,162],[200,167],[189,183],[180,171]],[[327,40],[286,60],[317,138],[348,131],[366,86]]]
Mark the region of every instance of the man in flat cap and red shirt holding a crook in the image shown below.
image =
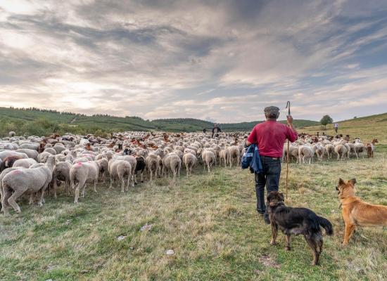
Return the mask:
[[[293,127],[293,117],[286,117],[288,126],[277,122],[279,108],[265,107],[266,122],[254,126],[246,141],[246,147],[255,143],[258,145],[263,171],[255,173],[255,192],[257,196],[257,211],[262,215],[265,223],[269,224],[269,214],[265,206],[265,186],[267,194],[278,191],[281,176],[281,159],[286,139],[293,143],[298,133]]]

